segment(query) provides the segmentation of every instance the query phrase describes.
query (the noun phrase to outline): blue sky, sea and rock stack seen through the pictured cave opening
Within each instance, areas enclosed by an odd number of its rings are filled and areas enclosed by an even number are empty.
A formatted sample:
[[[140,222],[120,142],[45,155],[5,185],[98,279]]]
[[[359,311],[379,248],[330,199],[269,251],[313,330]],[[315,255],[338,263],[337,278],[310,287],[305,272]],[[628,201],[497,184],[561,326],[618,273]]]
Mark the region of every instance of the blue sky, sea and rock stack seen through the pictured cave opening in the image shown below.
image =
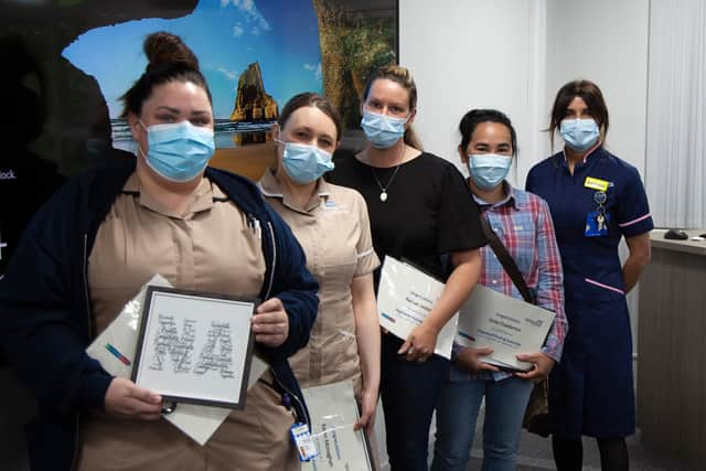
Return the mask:
[[[135,150],[127,122],[119,118],[119,97],[145,71],[142,41],[154,31],[182,36],[199,57],[213,95],[218,148],[265,142],[284,103],[301,90],[321,92],[311,0],[201,0],[182,18],[93,29],[64,49],[63,56],[98,81],[114,147]]]

